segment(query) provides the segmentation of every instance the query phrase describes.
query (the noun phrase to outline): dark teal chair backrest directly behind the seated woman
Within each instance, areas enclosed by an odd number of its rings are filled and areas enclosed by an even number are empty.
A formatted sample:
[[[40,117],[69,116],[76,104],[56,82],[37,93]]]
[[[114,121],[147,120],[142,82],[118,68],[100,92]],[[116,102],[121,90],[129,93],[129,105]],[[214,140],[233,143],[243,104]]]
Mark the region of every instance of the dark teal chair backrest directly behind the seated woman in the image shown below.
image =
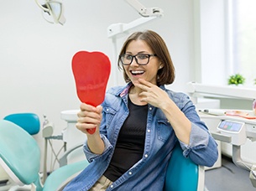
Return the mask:
[[[166,177],[165,191],[202,191],[204,190],[204,168],[183,156],[180,143],[177,142],[170,157]]]

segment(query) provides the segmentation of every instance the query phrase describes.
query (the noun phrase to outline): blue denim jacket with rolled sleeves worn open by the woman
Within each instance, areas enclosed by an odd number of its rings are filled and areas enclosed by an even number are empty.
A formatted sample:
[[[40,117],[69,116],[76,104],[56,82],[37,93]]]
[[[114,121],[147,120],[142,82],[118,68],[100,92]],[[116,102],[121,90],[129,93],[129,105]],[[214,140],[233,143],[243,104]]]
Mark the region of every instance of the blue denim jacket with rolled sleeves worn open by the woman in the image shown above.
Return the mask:
[[[85,143],[84,152],[90,164],[64,190],[88,190],[107,169],[118,140],[118,132],[128,117],[128,89],[130,86],[131,84],[125,87],[114,87],[107,91],[105,101],[102,103],[100,127],[105,150],[101,155],[91,153]],[[167,90],[164,85],[160,88],[168,93],[170,99],[192,123],[190,144],[186,145],[180,142],[184,156],[190,157],[199,165],[212,166],[217,161],[217,143],[208,132],[205,123],[200,120],[190,98],[183,93]],[[149,105],[144,157],[112,183],[107,190],[163,190],[165,171],[177,141],[179,140],[164,113],[159,108]]]

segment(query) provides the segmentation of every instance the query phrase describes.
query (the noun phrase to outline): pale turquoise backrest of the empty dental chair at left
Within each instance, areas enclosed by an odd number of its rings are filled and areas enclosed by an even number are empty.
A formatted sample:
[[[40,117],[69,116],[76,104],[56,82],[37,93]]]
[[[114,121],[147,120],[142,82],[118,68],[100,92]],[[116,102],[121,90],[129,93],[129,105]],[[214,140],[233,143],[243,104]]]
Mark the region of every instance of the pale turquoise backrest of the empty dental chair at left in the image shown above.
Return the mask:
[[[40,150],[34,138],[13,122],[0,120],[0,146],[0,164],[10,178],[40,190]]]

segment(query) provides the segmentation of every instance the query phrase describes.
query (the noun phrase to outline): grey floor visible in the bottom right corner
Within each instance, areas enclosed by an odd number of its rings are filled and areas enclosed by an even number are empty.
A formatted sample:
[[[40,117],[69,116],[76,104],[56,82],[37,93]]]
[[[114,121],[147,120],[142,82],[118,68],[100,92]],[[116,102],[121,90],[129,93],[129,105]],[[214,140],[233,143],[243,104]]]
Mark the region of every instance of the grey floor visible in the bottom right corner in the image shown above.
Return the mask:
[[[238,168],[225,156],[222,156],[221,168],[206,171],[205,185],[209,191],[256,191],[249,179],[249,171]]]

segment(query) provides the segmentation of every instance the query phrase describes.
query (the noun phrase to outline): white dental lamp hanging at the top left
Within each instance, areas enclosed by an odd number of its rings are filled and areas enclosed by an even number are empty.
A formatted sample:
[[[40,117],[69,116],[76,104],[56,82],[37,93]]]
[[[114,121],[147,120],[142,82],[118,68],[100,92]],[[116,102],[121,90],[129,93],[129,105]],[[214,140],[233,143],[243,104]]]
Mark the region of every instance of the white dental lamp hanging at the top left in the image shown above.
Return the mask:
[[[35,0],[35,3],[42,9],[43,17],[48,23],[65,23],[64,8],[60,1],[45,0],[45,3],[40,4],[39,0]]]

